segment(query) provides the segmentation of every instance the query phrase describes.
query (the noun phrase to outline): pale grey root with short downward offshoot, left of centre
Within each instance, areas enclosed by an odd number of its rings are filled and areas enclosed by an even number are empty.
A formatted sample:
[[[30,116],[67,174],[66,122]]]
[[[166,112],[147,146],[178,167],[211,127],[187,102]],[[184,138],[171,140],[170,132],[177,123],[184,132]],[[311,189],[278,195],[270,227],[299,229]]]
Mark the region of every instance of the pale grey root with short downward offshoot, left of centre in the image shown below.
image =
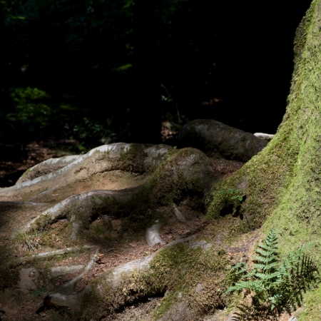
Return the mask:
[[[116,200],[129,200],[140,187],[125,188],[123,190],[88,190],[78,195],[73,195],[66,200],[54,205],[52,208],[45,210],[26,225],[22,225],[16,229],[11,235],[14,237],[16,233],[24,233],[37,225],[37,228],[44,227],[44,225],[51,225],[56,220],[68,218],[74,222],[73,238],[76,238],[78,230],[81,227],[79,220],[84,218],[91,218],[93,215],[93,203],[95,206],[103,205],[102,198],[112,197]]]

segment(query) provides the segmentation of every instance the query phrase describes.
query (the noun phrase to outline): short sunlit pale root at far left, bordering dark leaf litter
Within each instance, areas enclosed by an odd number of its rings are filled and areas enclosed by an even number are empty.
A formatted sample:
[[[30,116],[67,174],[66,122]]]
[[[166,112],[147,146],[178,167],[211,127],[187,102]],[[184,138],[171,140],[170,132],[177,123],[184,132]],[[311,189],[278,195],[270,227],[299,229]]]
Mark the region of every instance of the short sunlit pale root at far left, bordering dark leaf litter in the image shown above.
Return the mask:
[[[76,161],[80,156],[72,155],[72,156],[63,156],[60,158],[49,158],[46,161],[43,161],[39,164],[34,165],[33,167],[26,170],[19,180],[16,181],[16,185],[20,183],[24,183],[27,180],[33,180],[39,176],[52,173],[55,170],[61,169],[66,165]]]

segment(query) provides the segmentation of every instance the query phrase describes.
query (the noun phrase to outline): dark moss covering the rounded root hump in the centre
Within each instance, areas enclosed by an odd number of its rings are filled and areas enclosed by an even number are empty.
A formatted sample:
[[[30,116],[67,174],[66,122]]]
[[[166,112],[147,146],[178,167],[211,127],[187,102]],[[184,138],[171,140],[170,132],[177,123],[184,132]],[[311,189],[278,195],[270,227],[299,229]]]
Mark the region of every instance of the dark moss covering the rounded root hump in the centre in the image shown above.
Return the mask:
[[[184,163],[188,158],[193,158],[190,166]],[[167,153],[165,160],[158,165],[147,183],[129,200],[117,200],[109,196],[93,198],[90,209],[83,218],[84,228],[88,227],[91,215],[95,213],[122,218],[124,222],[128,220],[128,224],[123,225],[135,233],[146,230],[156,219],[165,223],[169,215],[172,215],[172,210],[159,213],[157,208],[168,206],[170,209],[173,203],[180,204],[184,201],[190,208],[203,210],[203,183],[206,178],[202,178],[200,173],[206,162],[208,158],[205,154],[194,148],[179,151],[173,149]],[[76,208],[73,208],[73,212],[76,212]]]

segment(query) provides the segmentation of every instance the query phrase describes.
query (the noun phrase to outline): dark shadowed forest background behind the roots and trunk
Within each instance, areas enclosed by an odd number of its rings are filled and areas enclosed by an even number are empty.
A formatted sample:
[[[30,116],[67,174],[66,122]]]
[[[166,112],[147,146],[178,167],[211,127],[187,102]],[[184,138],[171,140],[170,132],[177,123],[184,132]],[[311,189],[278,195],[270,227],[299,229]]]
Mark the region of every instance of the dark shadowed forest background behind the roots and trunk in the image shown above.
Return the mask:
[[[0,158],[175,143],[195,118],[275,133],[310,2],[0,1]]]

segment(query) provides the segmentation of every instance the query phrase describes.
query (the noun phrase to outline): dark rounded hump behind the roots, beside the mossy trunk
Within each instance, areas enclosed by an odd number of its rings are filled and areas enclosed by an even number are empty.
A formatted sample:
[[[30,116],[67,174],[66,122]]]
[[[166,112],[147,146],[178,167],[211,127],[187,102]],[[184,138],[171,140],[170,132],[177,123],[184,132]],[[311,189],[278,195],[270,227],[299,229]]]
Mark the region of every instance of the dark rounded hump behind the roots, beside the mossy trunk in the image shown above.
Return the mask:
[[[247,162],[262,151],[266,141],[212,119],[195,119],[178,134],[180,147],[199,148],[210,157]]]

